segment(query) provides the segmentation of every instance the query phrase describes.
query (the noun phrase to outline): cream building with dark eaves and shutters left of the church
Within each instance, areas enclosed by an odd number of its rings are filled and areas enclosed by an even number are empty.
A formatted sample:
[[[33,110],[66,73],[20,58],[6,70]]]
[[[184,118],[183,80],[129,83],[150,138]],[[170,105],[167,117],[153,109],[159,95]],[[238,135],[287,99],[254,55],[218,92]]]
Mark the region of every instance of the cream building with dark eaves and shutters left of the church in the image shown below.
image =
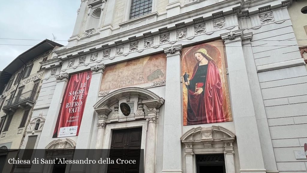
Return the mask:
[[[45,70],[40,62],[50,58],[52,50],[61,46],[46,39],[19,55],[1,72],[0,148],[10,149],[10,152],[0,153],[1,165],[7,161],[6,158],[16,155],[19,148],[25,148],[24,140],[26,142],[28,138],[36,139],[35,133],[32,133],[31,137],[27,134],[26,138],[24,135],[28,121],[35,112],[33,106],[37,102],[37,93],[40,92],[44,78]],[[27,147],[34,148],[34,145]],[[10,172],[12,165],[8,166],[10,167],[0,166],[0,170]]]

